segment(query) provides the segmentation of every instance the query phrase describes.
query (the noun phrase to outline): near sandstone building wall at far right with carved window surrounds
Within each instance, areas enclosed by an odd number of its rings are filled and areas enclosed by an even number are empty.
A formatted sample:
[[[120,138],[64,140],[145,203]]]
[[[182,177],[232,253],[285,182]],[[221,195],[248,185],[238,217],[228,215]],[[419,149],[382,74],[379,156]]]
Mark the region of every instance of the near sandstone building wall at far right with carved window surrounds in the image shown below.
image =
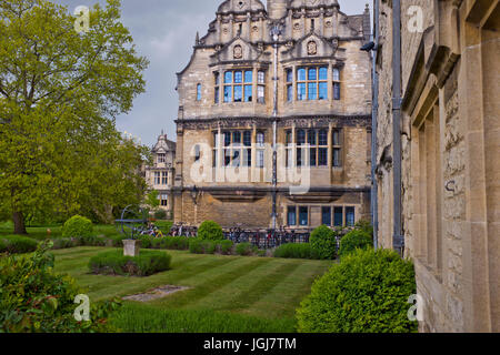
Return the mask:
[[[376,1],[379,243],[393,245],[401,163],[404,255],[414,261],[424,301],[420,329],[500,332],[500,2],[401,1],[398,162],[396,0]]]

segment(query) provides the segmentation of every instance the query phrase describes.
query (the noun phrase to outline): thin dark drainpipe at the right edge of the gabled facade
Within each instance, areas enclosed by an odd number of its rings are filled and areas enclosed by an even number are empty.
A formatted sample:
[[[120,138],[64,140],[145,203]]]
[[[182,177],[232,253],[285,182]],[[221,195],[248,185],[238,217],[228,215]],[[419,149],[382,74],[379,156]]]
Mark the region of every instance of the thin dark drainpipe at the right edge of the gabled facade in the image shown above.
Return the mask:
[[[379,49],[379,0],[373,0],[373,42],[376,50],[373,51],[373,108],[371,118],[371,217],[373,225],[373,247],[377,250],[379,247],[379,185],[377,181],[376,170],[377,170],[377,152],[378,152],[378,116],[379,116],[379,73],[377,72],[377,58]]]

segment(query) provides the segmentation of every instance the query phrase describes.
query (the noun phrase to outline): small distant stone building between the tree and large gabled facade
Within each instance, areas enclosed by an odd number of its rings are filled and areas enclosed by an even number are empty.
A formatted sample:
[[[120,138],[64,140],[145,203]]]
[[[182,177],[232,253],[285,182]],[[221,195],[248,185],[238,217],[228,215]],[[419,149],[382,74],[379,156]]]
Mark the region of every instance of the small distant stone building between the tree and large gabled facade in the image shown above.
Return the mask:
[[[173,216],[173,165],[176,160],[176,142],[168,140],[167,134],[161,133],[157,143],[151,149],[153,158],[152,166],[146,166],[146,182],[150,190],[158,191],[160,209],[167,212],[167,217]]]

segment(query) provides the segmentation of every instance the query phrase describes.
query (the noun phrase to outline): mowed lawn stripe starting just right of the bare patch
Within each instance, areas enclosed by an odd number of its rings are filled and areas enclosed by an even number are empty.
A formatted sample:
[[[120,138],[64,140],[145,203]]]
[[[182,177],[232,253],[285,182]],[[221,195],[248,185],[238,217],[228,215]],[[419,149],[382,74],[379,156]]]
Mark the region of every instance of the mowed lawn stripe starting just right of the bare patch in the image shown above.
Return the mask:
[[[194,288],[186,292],[173,294],[171,297],[154,301],[156,304],[162,304],[169,308],[197,308],[196,302],[207,297],[209,294],[217,290],[230,284],[237,278],[243,277],[251,273],[257,267],[270,263],[271,260],[241,257],[237,258],[238,266],[231,265],[223,273],[220,271],[213,271],[211,273],[214,277],[210,277],[201,284],[196,285]]]

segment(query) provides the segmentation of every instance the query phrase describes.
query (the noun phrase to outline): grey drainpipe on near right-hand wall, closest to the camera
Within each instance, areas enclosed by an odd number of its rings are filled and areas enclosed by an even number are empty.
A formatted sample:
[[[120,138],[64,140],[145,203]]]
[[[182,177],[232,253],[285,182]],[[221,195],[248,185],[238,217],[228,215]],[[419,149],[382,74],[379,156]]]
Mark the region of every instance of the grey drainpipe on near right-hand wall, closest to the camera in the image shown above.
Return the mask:
[[[401,225],[401,0],[392,1],[392,139],[393,139],[393,236],[392,246],[402,256]]]

